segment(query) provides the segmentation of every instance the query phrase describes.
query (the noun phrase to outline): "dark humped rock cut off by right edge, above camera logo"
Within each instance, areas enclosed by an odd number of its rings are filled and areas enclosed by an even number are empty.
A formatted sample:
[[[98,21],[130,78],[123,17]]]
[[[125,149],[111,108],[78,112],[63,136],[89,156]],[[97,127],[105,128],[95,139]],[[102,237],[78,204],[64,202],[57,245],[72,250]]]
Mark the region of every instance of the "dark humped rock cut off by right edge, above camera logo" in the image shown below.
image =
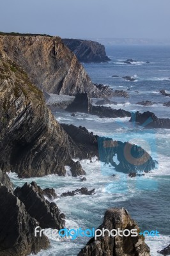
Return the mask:
[[[164,128],[170,129],[170,119],[169,118],[158,118],[154,113],[146,111],[144,113],[139,113],[137,111],[135,114],[135,122],[139,125],[143,125],[146,122],[145,127],[147,128]],[[132,122],[132,118],[130,118]]]

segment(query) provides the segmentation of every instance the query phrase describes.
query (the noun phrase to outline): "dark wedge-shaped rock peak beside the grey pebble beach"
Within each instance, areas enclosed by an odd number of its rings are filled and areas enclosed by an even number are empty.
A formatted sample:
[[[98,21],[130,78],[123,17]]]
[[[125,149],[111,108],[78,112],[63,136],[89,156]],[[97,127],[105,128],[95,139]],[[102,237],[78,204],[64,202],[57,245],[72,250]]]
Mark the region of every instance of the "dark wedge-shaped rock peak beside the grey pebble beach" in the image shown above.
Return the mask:
[[[91,99],[88,93],[77,93],[73,102],[65,110],[91,113]]]

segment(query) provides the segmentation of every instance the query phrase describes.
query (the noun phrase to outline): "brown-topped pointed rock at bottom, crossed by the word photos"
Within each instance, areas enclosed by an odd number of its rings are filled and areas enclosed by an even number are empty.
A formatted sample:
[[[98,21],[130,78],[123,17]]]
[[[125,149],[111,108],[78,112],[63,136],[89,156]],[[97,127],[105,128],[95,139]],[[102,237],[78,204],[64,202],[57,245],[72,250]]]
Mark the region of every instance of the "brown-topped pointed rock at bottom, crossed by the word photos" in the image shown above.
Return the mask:
[[[137,223],[130,217],[127,210],[112,208],[105,212],[104,222],[98,227],[102,230],[132,230],[137,229]],[[95,237],[91,238],[86,246],[82,248],[81,252],[77,256],[150,256],[150,248],[144,243],[144,237],[138,235],[132,236],[108,236],[108,232],[105,232],[104,237],[99,236],[97,240]]]

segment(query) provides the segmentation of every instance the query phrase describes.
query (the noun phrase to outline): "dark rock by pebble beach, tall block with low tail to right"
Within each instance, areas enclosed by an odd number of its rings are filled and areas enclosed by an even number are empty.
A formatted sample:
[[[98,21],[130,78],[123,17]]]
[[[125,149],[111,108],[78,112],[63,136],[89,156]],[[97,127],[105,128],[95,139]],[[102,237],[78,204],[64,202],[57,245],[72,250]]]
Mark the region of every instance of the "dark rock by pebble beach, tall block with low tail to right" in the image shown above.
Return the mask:
[[[66,111],[77,111],[109,118],[131,116],[130,112],[123,109],[112,109],[110,107],[104,106],[93,106],[91,104],[91,100],[89,99],[88,93],[77,93],[73,102],[66,108]]]

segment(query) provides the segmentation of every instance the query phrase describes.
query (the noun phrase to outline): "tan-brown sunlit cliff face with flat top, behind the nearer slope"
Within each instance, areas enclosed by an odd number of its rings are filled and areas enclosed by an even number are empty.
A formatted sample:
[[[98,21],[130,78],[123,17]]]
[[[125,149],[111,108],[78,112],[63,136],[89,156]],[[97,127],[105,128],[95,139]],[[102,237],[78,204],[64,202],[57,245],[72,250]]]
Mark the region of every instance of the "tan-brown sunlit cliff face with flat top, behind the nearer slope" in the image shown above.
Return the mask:
[[[58,36],[0,35],[0,47],[46,92],[75,95],[95,90],[75,54]]]

